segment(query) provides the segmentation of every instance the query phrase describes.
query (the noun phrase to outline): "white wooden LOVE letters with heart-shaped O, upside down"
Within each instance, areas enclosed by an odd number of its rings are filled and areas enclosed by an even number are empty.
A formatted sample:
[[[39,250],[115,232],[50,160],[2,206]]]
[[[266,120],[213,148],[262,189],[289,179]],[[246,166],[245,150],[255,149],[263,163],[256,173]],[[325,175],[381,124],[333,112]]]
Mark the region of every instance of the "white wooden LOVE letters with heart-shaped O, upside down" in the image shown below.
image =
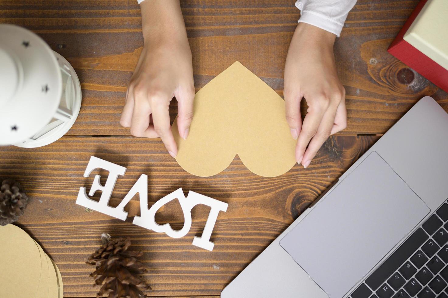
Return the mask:
[[[99,182],[101,176],[95,175],[92,187],[89,191],[90,196],[94,195],[98,190],[102,191],[99,202],[90,199],[86,193],[86,188],[81,187],[79,189],[78,198],[76,199],[76,203],[78,205],[88,207],[92,210],[121,220],[125,220],[128,213],[124,211],[124,208],[126,204],[129,203],[129,201],[134,197],[134,195],[138,193],[140,197],[140,216],[135,216],[133,223],[158,233],[166,233],[172,238],[182,238],[188,233],[188,231],[190,231],[191,228],[191,209],[198,204],[204,204],[211,207],[211,209],[202,235],[201,237],[194,237],[193,245],[202,247],[206,250],[213,250],[214,243],[210,241],[211,233],[215,226],[219,212],[226,212],[228,206],[227,203],[195,193],[194,191],[190,191],[188,193],[188,197],[185,198],[184,192],[181,188],[179,188],[178,190],[173,191],[171,194],[168,194],[159,201],[155,202],[154,205],[148,209],[148,176],[142,174],[142,176],[138,178],[137,182],[135,182],[134,186],[132,186],[129,190],[128,194],[126,194],[121,203],[114,208],[109,206],[108,203],[112,196],[112,191],[118,176],[124,176],[126,173],[126,168],[106,160],[99,159],[98,157],[91,156],[89,164],[87,164],[86,171],[84,172],[84,177],[89,177],[90,173],[92,173],[92,171],[96,168],[102,168],[109,171],[108,179],[106,180],[104,186]],[[173,230],[171,225],[168,223],[159,225],[155,222],[155,212],[157,212],[157,210],[159,210],[159,208],[164,204],[172,201],[173,199],[179,200],[182,212],[184,213],[184,226],[178,231]]]

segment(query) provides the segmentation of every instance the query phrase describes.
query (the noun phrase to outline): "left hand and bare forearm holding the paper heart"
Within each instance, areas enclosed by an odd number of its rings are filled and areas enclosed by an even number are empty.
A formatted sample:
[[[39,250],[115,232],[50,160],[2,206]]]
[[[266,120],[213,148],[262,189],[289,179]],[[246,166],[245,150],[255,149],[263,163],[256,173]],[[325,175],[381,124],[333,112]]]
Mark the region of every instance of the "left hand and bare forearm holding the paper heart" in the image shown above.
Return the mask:
[[[136,137],[160,137],[172,157],[177,145],[169,103],[178,102],[179,134],[187,138],[193,119],[193,66],[179,0],[141,4],[144,45],[126,92],[120,124]]]

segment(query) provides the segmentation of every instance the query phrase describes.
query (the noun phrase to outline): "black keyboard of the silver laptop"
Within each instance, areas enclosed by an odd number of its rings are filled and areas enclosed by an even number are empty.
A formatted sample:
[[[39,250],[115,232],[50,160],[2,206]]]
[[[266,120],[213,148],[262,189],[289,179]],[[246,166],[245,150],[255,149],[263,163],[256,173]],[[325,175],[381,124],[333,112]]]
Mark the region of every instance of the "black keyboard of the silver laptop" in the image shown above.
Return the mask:
[[[350,298],[448,298],[448,204],[401,244]]]

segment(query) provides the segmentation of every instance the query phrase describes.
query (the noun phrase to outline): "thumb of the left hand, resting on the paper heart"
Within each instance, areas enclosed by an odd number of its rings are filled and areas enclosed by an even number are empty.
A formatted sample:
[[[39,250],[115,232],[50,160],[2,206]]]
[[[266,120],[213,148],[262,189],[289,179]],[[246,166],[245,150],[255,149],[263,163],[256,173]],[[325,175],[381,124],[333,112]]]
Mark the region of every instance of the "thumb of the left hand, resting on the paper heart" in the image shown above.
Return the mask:
[[[186,139],[193,120],[194,87],[183,89],[175,95],[177,99],[177,129],[179,135]]]

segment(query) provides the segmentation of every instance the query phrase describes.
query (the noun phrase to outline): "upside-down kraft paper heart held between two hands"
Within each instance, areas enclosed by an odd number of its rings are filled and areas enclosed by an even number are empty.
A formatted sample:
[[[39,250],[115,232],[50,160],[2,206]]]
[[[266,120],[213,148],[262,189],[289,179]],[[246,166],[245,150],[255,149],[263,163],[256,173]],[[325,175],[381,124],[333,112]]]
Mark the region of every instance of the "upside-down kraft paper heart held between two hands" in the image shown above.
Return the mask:
[[[179,136],[177,117],[172,132],[177,162],[196,176],[222,172],[235,155],[264,177],[286,173],[296,163],[284,100],[238,61],[196,93],[188,138]]]

